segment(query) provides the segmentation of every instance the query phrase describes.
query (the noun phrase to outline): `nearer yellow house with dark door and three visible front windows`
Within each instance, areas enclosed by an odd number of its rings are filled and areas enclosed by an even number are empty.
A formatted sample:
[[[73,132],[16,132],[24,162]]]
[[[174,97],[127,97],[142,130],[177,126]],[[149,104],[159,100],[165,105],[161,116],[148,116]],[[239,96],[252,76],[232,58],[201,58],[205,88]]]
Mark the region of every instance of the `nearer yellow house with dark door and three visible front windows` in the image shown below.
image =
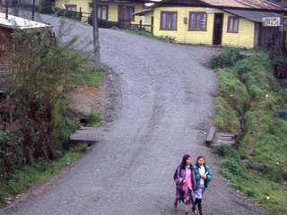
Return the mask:
[[[174,38],[177,43],[247,48],[260,44],[263,17],[280,17],[270,12],[172,4],[157,4],[135,14],[143,16],[144,22],[153,16],[153,34]]]

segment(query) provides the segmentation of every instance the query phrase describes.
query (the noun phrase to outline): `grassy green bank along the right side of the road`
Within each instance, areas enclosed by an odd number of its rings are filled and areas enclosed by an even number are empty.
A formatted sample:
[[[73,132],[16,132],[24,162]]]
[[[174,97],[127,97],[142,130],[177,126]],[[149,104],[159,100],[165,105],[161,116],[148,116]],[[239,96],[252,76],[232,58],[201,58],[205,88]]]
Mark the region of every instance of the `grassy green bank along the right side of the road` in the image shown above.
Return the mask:
[[[274,78],[267,54],[238,58],[216,73],[220,83],[214,104],[216,128],[239,133],[238,116],[246,122],[238,150],[224,145],[214,148],[222,156],[222,175],[230,179],[231,187],[257,199],[267,210],[286,214],[287,81]],[[249,159],[250,168],[240,159]]]

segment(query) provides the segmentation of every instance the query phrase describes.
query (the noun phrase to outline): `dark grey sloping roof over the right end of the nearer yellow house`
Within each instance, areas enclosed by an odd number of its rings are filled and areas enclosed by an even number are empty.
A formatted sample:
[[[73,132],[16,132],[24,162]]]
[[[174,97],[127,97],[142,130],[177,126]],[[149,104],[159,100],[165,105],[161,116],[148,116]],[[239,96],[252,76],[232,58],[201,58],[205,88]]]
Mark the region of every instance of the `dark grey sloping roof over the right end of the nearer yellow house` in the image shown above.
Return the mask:
[[[224,9],[223,11],[243,17],[249,21],[262,22],[263,17],[280,17],[279,13],[272,12],[257,12],[257,11],[241,11],[241,10],[231,10]]]

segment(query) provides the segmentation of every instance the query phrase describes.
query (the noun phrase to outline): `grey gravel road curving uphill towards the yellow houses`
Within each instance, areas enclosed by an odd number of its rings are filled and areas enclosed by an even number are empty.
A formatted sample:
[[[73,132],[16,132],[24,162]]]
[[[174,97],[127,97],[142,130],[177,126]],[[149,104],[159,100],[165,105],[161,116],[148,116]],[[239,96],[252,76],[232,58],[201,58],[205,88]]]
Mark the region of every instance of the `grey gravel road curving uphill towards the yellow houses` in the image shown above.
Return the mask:
[[[57,28],[57,18],[42,18]],[[91,26],[75,23],[73,31],[91,38]],[[204,214],[270,214],[226,185],[204,144],[218,87],[204,64],[217,51],[100,29],[101,61],[118,88],[116,119],[82,159],[0,214],[184,214],[183,204],[172,211],[172,176],[186,153],[193,163],[204,155],[213,170]]]

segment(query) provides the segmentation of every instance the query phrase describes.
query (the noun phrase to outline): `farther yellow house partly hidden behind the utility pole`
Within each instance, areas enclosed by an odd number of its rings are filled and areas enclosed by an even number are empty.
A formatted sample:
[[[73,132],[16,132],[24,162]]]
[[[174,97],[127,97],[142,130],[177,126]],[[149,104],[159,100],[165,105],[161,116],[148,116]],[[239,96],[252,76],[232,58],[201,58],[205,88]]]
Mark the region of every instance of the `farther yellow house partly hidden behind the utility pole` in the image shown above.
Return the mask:
[[[91,0],[56,0],[55,6],[62,8],[65,5],[67,10],[83,12],[82,21],[85,22],[92,11]],[[118,22],[119,20],[131,20],[132,24],[139,23],[141,17],[133,15],[135,11],[143,10],[143,4],[136,1],[117,1],[117,0],[97,0],[98,17],[104,20]]]

